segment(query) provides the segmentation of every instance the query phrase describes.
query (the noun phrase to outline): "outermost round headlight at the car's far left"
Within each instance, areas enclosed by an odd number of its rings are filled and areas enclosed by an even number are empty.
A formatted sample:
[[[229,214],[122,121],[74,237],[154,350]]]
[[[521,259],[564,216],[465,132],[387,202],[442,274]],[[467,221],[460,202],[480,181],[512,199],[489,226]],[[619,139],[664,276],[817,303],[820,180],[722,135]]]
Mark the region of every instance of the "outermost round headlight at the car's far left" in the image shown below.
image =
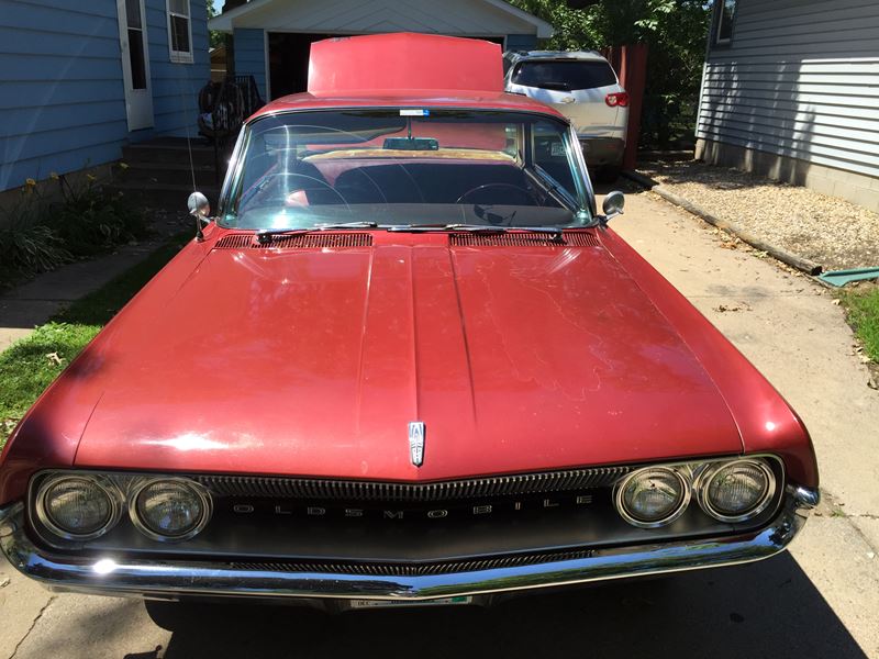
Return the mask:
[[[55,535],[92,540],[119,521],[120,496],[112,485],[91,477],[47,480],[37,493],[36,514]]]

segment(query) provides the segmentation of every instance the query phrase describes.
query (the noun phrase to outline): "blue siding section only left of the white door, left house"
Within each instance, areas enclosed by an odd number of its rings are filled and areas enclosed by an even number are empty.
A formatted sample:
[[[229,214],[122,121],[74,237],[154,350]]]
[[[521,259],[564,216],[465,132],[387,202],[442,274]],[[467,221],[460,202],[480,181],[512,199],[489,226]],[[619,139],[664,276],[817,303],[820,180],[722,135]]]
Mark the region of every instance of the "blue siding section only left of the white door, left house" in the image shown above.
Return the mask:
[[[0,0],[0,190],[118,158],[121,80],[115,0]]]

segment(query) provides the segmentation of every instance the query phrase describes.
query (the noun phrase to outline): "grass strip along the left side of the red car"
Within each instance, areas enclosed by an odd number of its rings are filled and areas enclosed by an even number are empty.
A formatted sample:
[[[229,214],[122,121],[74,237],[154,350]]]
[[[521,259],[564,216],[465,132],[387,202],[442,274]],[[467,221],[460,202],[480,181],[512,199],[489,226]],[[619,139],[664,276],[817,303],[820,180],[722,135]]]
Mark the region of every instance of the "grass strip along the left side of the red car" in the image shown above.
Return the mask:
[[[0,448],[43,390],[190,237],[185,232],[168,239],[145,260],[0,354]]]

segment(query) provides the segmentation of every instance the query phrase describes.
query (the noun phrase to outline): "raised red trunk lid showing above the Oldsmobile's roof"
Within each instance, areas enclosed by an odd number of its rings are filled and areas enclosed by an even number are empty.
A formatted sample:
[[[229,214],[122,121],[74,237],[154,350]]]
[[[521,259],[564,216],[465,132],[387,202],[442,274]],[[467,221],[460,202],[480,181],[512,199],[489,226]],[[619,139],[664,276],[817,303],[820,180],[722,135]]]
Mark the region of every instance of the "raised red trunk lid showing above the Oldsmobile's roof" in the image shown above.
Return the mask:
[[[491,42],[432,34],[375,34],[311,45],[309,92],[443,89],[503,91],[501,47]]]

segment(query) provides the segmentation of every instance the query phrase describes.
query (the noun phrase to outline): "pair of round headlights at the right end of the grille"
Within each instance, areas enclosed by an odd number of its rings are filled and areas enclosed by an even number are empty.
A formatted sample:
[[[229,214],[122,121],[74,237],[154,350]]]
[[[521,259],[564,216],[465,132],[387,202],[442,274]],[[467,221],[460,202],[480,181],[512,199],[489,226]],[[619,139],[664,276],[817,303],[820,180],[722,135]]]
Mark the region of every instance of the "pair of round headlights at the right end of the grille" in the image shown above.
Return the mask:
[[[704,513],[736,523],[759,515],[772,501],[776,478],[761,458],[706,465],[645,467],[614,490],[620,515],[633,526],[657,528],[680,517],[696,496]]]

